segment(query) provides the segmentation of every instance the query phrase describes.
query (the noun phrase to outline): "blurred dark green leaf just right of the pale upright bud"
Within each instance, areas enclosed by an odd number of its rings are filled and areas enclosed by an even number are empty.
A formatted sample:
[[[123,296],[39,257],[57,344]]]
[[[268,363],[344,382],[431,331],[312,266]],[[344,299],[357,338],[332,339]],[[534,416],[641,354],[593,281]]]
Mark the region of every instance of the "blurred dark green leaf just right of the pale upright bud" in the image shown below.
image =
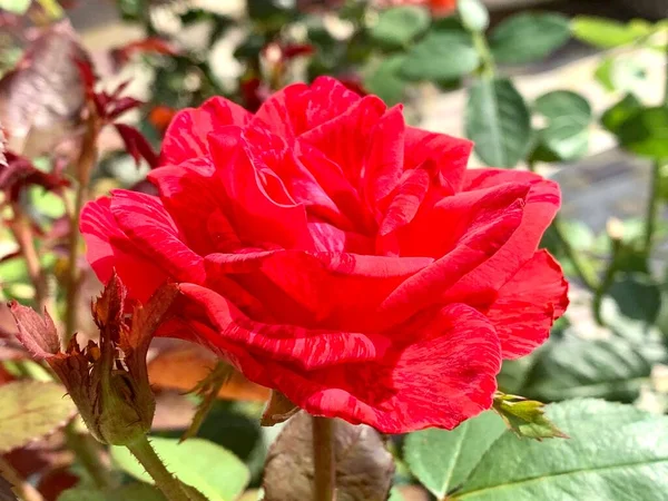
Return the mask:
[[[570,37],[568,19],[553,13],[520,13],[501,22],[490,35],[498,62],[523,65],[540,60]]]

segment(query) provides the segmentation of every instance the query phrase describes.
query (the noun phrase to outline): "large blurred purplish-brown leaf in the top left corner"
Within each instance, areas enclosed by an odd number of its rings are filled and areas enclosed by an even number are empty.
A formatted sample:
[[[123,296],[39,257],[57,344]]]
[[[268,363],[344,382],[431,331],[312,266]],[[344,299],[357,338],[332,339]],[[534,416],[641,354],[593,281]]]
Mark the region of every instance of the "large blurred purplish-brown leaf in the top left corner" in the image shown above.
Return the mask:
[[[31,136],[30,145],[13,149],[30,156],[48,153],[78,124],[86,97],[73,58],[88,56],[69,21],[59,21],[46,28],[0,80],[0,119],[10,141]]]

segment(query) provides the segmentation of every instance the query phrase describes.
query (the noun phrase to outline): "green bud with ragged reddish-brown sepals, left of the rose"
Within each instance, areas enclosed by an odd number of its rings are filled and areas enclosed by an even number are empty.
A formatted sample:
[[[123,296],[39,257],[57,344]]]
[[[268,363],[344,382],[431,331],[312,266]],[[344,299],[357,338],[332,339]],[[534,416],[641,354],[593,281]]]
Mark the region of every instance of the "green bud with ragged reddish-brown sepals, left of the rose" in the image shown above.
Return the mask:
[[[92,303],[92,316],[100,330],[99,343],[89,341],[81,348],[75,334],[65,352],[47,311],[42,317],[16,302],[10,308],[19,328],[17,337],[36,358],[46,360],[56,372],[96,439],[126,445],[150,429],[155,400],[146,354],[177,294],[176,285],[164,285],[146,306],[135,306],[128,322],[124,313],[126,288],[115,274]]]

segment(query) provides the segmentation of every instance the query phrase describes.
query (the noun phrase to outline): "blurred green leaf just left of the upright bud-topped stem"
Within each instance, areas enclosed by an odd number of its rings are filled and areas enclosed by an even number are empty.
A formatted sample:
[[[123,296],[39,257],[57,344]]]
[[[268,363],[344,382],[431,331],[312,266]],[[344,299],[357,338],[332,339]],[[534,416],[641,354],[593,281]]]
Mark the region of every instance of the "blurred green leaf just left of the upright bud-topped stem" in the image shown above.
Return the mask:
[[[471,73],[479,65],[470,35],[434,30],[411,48],[401,73],[409,80],[451,80]]]

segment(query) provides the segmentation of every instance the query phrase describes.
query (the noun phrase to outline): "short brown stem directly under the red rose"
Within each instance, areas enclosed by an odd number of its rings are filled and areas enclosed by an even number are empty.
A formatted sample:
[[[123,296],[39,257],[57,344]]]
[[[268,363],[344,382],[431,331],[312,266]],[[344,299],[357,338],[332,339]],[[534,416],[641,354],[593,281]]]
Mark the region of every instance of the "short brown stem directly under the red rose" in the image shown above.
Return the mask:
[[[313,416],[314,501],[334,500],[334,421]]]

